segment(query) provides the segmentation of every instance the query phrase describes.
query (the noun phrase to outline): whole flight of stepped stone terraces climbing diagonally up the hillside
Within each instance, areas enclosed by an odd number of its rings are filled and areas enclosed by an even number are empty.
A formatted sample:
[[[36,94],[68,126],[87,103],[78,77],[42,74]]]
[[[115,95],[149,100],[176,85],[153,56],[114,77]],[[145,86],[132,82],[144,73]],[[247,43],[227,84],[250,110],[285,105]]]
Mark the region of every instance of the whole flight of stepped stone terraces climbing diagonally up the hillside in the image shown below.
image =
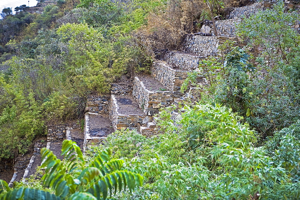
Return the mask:
[[[83,151],[90,145],[101,143],[116,130],[137,130],[150,137],[160,132],[157,127],[155,114],[162,107],[177,105],[183,101],[195,102],[201,98],[203,87],[209,82],[203,76],[197,78],[196,85],[189,85],[184,93],[180,92],[187,73],[198,68],[199,62],[209,56],[220,54],[218,46],[226,40],[235,41],[235,46],[243,47],[246,42],[236,38],[235,24],[241,22],[243,15],[249,16],[258,10],[270,9],[274,2],[262,1],[240,8],[230,8],[226,20],[217,20],[216,28],[219,37],[215,37],[209,22],[202,26],[203,34],[188,34],[184,37],[178,51],[161,51],[153,62],[151,75],[137,75],[131,83],[112,84],[111,95],[91,95],[87,98],[84,133],[78,136],[72,126],[50,125],[47,134],[47,148],[53,150],[59,157],[61,143],[64,139],[83,140],[79,146]],[[287,6],[290,6],[289,4]],[[294,6],[299,9],[300,6]],[[300,25],[291,25],[300,32]],[[249,49],[256,53],[255,48]],[[174,125],[180,127],[176,121],[180,120],[180,112],[173,111],[171,119]],[[77,130],[78,132],[78,130]],[[79,141],[80,142],[80,141]],[[45,146],[45,145],[44,145]],[[26,159],[19,159],[15,163],[13,181],[26,178],[34,173],[35,168],[41,164],[40,151],[44,147],[37,143],[34,153]]]

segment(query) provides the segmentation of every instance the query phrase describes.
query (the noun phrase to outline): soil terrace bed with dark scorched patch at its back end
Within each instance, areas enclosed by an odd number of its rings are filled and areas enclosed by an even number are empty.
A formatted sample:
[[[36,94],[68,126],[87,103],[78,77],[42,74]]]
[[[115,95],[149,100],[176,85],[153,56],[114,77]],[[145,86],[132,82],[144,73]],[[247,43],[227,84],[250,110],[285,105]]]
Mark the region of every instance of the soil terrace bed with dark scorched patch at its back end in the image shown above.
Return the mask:
[[[132,94],[126,96],[116,96],[120,109],[118,112],[123,115],[145,115],[140,109],[139,104],[132,97]]]

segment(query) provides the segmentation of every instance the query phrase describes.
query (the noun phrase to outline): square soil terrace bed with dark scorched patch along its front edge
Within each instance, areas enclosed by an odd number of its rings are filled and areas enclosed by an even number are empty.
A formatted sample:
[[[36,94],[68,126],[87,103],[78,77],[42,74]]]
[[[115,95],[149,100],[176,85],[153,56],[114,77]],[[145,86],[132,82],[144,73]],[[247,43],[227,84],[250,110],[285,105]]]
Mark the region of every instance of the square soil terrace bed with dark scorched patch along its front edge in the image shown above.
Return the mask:
[[[113,124],[108,114],[89,115],[89,134],[91,137],[107,137],[113,132]]]

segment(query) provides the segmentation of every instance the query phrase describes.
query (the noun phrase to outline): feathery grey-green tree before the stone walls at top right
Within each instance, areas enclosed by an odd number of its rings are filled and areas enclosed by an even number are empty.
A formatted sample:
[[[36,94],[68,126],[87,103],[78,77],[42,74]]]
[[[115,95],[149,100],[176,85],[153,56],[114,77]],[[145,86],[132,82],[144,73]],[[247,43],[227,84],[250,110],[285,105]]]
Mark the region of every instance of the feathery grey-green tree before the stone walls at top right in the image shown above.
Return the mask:
[[[298,52],[300,35],[290,25],[299,17],[295,11],[285,12],[283,2],[279,1],[273,9],[259,11],[244,19],[238,25],[238,34],[261,48],[262,65],[267,60],[272,66],[291,63]]]

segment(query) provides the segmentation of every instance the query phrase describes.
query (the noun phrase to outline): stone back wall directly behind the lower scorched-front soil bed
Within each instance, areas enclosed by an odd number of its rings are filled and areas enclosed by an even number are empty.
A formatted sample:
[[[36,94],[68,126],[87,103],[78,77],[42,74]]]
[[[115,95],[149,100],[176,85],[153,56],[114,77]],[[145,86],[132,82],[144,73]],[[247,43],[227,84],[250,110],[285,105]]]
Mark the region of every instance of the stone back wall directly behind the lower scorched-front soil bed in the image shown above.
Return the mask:
[[[110,96],[88,96],[85,111],[90,113],[108,113],[109,98]]]

